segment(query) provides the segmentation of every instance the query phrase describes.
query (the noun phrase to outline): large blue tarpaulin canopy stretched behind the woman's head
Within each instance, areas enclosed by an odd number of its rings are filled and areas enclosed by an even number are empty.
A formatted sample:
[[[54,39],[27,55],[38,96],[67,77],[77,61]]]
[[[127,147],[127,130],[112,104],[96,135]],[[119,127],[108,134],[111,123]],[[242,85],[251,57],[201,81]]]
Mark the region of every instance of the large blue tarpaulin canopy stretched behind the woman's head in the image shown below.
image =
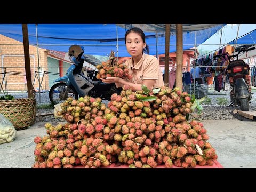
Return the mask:
[[[171,24],[170,52],[176,51],[176,36],[174,25]],[[118,56],[130,56],[125,47],[125,32],[135,24],[38,24],[38,45],[43,49],[67,52],[73,44],[83,45],[85,54],[106,56],[111,50],[117,51]],[[151,55],[165,53],[165,25],[142,25],[146,35],[146,43],[149,45]],[[221,25],[212,24],[183,24],[183,49],[189,49],[196,44],[202,44],[215,34]],[[147,32],[152,31],[152,32]],[[184,32],[185,31],[185,32]],[[156,32],[158,34],[156,43]],[[21,24],[1,24],[0,34],[23,42]],[[28,25],[29,44],[36,45],[36,25]],[[156,47],[157,44],[157,47]]]

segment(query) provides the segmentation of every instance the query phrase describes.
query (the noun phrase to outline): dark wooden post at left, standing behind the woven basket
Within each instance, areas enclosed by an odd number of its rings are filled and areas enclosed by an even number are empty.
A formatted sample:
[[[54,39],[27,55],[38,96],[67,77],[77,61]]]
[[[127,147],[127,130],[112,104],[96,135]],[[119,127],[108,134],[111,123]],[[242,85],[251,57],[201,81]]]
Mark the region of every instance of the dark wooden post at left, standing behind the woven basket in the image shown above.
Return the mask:
[[[32,86],[31,70],[30,70],[28,25],[27,24],[22,24],[22,33],[23,33],[23,47],[24,47],[26,80],[27,80],[27,86],[28,86],[28,98],[30,98],[33,86]]]

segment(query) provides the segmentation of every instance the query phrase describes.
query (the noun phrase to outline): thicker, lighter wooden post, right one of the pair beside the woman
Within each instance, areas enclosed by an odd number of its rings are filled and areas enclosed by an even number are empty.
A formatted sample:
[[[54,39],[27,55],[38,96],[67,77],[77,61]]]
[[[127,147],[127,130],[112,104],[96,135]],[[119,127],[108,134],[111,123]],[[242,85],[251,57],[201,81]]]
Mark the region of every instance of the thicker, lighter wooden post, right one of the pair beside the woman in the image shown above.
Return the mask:
[[[183,34],[182,24],[176,24],[176,87],[182,90]]]

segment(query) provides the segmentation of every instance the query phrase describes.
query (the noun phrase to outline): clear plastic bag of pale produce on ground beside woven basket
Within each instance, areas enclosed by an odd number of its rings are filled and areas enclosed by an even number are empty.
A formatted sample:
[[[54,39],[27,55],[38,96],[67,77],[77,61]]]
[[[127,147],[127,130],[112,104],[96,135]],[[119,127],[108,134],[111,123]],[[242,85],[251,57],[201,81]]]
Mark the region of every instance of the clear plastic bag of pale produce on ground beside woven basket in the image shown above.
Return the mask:
[[[16,134],[13,124],[0,113],[0,144],[12,142]]]

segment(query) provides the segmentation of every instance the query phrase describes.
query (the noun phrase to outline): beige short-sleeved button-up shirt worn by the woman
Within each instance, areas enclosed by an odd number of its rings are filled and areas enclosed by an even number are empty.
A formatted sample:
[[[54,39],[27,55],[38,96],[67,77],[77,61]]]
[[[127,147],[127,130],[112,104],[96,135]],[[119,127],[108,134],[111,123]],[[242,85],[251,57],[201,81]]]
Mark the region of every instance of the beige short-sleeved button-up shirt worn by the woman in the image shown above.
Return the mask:
[[[133,59],[126,61],[125,65],[129,68],[132,75],[131,83],[142,84],[143,80],[155,80],[154,87],[164,86],[162,71],[156,57],[143,53],[140,61],[134,66]]]

